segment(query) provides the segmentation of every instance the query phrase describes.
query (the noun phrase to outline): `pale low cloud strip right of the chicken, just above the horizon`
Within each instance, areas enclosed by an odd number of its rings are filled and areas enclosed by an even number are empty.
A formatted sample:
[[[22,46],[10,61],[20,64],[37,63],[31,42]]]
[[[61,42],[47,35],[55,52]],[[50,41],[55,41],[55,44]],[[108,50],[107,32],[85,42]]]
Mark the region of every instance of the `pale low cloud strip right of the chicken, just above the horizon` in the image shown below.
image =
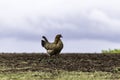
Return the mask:
[[[101,50],[108,50],[109,48],[119,49],[120,43],[94,39],[67,40],[63,52],[100,53]]]

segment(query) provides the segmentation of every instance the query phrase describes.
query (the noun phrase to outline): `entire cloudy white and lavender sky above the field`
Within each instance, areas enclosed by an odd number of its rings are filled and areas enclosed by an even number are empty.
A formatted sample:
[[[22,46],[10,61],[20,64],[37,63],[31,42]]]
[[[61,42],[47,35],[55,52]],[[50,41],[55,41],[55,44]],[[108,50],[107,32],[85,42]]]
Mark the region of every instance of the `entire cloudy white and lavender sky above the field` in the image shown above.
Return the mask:
[[[62,53],[120,48],[119,0],[0,0],[0,52],[46,52],[62,34]]]

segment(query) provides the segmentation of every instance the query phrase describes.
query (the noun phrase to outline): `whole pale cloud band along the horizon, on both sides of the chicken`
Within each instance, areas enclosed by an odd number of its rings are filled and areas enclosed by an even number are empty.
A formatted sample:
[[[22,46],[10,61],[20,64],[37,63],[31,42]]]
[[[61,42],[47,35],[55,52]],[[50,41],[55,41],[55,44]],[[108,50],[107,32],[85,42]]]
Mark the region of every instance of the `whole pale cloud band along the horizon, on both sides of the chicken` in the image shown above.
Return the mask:
[[[101,50],[105,49],[114,49],[119,48],[119,43],[104,41],[104,40],[90,40],[90,39],[82,39],[82,40],[65,40],[64,48],[62,53],[92,53],[92,52],[101,52]],[[4,38],[0,39],[0,52],[44,52],[46,50],[42,48],[40,42],[37,41],[21,41],[13,38]]]

